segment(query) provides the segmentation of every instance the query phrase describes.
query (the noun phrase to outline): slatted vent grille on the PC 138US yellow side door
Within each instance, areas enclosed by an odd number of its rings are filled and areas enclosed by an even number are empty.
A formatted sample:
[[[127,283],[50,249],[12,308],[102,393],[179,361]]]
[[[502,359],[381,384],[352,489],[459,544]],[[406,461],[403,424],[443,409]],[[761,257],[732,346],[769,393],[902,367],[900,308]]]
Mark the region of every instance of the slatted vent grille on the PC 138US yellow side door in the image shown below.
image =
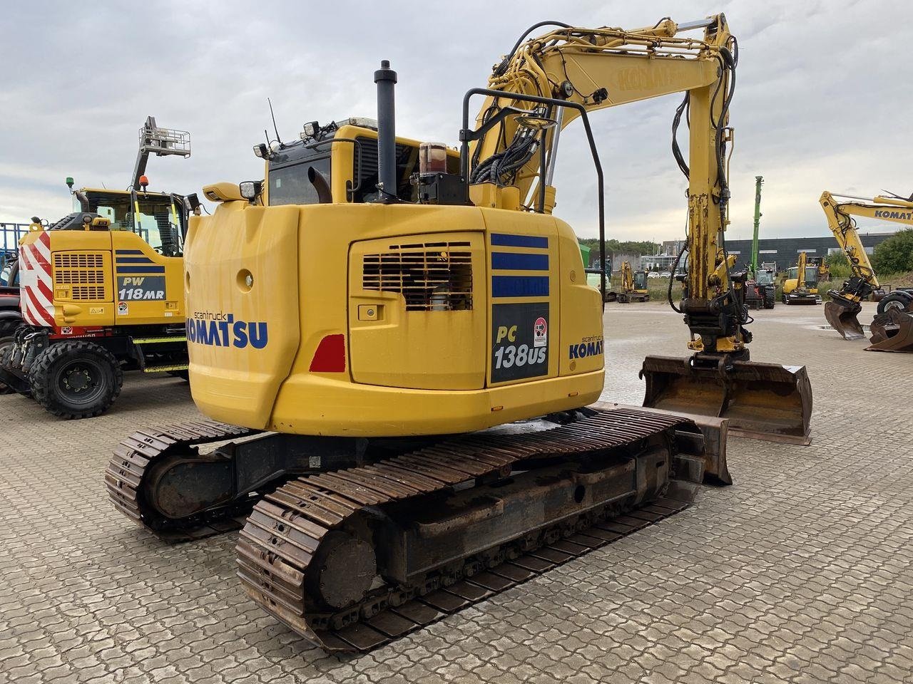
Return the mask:
[[[392,244],[362,257],[362,288],[403,295],[406,311],[472,308],[469,243]]]

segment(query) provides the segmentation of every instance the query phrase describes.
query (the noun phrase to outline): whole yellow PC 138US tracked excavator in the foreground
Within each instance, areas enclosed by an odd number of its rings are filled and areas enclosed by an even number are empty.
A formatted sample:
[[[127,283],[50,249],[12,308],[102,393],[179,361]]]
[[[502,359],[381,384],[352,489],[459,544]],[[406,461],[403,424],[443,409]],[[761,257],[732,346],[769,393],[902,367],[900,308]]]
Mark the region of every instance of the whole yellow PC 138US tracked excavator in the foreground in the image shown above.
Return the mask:
[[[191,389],[212,420],[137,431],[111,458],[108,491],[165,538],[243,524],[248,596],[329,651],[387,643],[675,513],[705,475],[728,481],[723,392],[730,426],[808,434],[804,368],[748,360],[725,267],[737,62],[725,17],[557,25],[526,40],[554,24],[532,26],[488,88],[467,92],[458,158],[396,137],[396,74],[382,62],[376,122],[313,121],[300,140],[258,144],[264,180],[207,186],[218,207],[191,219]],[[696,354],[647,359],[644,371],[656,382],[658,366],[670,396],[697,382],[687,409],[709,399],[713,416],[697,422],[592,404],[604,387],[602,293],[551,213],[559,135],[579,119],[604,264],[589,115],[681,91],[680,310]]]

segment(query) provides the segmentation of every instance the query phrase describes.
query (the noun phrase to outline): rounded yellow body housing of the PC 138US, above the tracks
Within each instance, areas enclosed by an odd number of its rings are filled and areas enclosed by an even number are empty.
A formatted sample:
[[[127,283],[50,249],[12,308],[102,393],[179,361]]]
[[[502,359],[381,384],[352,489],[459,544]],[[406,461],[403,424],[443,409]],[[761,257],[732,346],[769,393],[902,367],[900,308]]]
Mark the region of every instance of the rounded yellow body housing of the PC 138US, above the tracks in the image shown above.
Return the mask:
[[[351,146],[333,148],[334,169],[351,169]],[[206,415],[378,437],[479,430],[599,397],[600,294],[569,225],[335,202],[346,185],[333,186],[332,203],[228,201],[191,219],[187,339]]]

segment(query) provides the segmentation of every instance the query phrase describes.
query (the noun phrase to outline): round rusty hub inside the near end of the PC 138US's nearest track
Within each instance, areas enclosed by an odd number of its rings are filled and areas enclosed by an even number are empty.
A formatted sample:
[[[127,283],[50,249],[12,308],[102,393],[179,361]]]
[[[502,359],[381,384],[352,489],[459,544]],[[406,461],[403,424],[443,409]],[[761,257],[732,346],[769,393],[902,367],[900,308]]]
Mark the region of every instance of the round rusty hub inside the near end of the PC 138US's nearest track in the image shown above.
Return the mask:
[[[377,560],[371,544],[336,530],[324,536],[310,570],[310,596],[325,606],[344,608],[368,593],[377,575]]]

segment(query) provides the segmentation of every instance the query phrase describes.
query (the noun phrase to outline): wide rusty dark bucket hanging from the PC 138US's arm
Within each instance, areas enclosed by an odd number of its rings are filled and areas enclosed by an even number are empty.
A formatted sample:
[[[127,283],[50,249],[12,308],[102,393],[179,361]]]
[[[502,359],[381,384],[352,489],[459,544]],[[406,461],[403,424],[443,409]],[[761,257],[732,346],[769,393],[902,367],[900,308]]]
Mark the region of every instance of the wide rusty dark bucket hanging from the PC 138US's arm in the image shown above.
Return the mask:
[[[729,433],[810,444],[812,385],[804,366],[735,361],[695,367],[691,358],[646,357],[644,406],[729,419]]]

